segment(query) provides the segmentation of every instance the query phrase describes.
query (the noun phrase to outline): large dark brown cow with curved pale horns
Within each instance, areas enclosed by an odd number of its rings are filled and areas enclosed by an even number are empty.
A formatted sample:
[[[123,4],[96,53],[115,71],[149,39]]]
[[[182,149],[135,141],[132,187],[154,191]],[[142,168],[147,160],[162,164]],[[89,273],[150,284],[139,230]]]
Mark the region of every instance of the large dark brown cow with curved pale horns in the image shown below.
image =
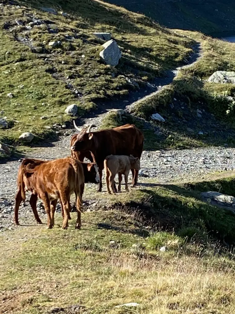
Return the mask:
[[[80,129],[74,126],[77,130]],[[79,134],[71,138],[70,147],[72,156],[77,160],[83,161],[88,158],[96,161],[99,167],[100,186],[98,192],[102,191],[102,170],[104,160],[108,155],[133,155],[140,159],[144,136],[141,131],[133,124],[125,124],[121,127],[105,129],[97,132],[90,132],[91,126],[83,128]],[[94,159],[93,159],[94,158]],[[132,187],[137,184],[138,170],[132,171]]]

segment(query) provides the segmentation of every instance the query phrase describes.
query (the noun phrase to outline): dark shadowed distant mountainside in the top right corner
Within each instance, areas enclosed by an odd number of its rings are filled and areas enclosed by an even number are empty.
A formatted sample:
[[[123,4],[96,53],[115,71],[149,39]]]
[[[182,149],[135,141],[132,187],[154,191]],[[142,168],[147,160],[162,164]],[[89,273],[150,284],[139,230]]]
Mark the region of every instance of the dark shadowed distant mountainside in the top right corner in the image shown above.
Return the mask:
[[[197,30],[205,34],[235,34],[233,0],[107,0],[134,12],[141,12],[169,28]],[[216,34],[215,34],[216,35]]]

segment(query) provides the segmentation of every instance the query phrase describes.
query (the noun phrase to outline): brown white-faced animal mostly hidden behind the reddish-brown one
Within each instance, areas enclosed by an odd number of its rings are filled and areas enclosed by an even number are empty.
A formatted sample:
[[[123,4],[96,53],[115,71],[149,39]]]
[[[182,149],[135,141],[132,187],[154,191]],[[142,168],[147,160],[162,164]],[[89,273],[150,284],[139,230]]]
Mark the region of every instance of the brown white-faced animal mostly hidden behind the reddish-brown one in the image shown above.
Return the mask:
[[[57,160],[58,161],[58,160]],[[61,160],[60,160],[61,161]],[[14,210],[14,222],[15,224],[19,224],[18,222],[18,209],[20,206],[20,203],[25,200],[25,185],[26,187],[28,187],[30,185],[30,181],[27,182],[29,179],[24,176],[25,173],[27,173],[27,171],[34,169],[37,165],[41,165],[44,163],[50,163],[51,161],[44,161],[44,160],[37,160],[37,159],[24,159],[22,164],[19,167],[18,170],[18,180],[17,180],[17,186],[18,186],[18,190],[16,193],[16,197],[15,197],[15,210]],[[85,177],[85,182],[91,182],[91,183],[99,183],[99,174],[98,174],[98,169],[97,169],[97,165],[95,165],[94,163],[80,163],[83,169],[83,174]],[[82,170],[80,169],[80,170]],[[82,171],[81,171],[82,172]],[[25,184],[26,183],[26,184]],[[28,184],[27,184],[28,183]],[[32,184],[32,182],[31,182]],[[31,197],[30,197],[30,205],[33,209],[34,212],[34,217],[37,220],[37,222],[39,224],[41,224],[41,220],[38,216],[38,212],[37,212],[37,207],[36,207],[36,203],[37,203],[37,198],[38,198],[38,193],[36,191],[36,189],[33,188],[27,188],[29,191],[31,191]],[[84,187],[83,187],[84,189]],[[83,193],[83,189],[81,190],[81,196]],[[55,213],[55,207],[56,207],[56,203],[57,203],[57,199],[53,199],[51,201],[51,208],[50,208],[50,212],[53,215],[53,224],[54,224],[54,213]],[[64,210],[63,210],[63,206],[61,204],[61,212],[62,212],[62,216],[64,217]],[[69,215],[69,219],[70,219],[70,215]]]

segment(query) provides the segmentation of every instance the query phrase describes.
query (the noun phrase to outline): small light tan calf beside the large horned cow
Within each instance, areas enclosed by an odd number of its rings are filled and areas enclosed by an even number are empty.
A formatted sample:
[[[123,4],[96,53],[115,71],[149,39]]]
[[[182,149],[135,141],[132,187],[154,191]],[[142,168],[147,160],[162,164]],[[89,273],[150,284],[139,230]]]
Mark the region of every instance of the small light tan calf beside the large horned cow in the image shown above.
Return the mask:
[[[104,160],[105,178],[108,193],[111,194],[109,184],[112,187],[112,192],[117,192],[114,184],[114,178],[118,173],[118,192],[121,191],[122,175],[125,177],[126,191],[128,192],[128,174],[130,169],[140,170],[140,160],[132,155],[109,155]]]

